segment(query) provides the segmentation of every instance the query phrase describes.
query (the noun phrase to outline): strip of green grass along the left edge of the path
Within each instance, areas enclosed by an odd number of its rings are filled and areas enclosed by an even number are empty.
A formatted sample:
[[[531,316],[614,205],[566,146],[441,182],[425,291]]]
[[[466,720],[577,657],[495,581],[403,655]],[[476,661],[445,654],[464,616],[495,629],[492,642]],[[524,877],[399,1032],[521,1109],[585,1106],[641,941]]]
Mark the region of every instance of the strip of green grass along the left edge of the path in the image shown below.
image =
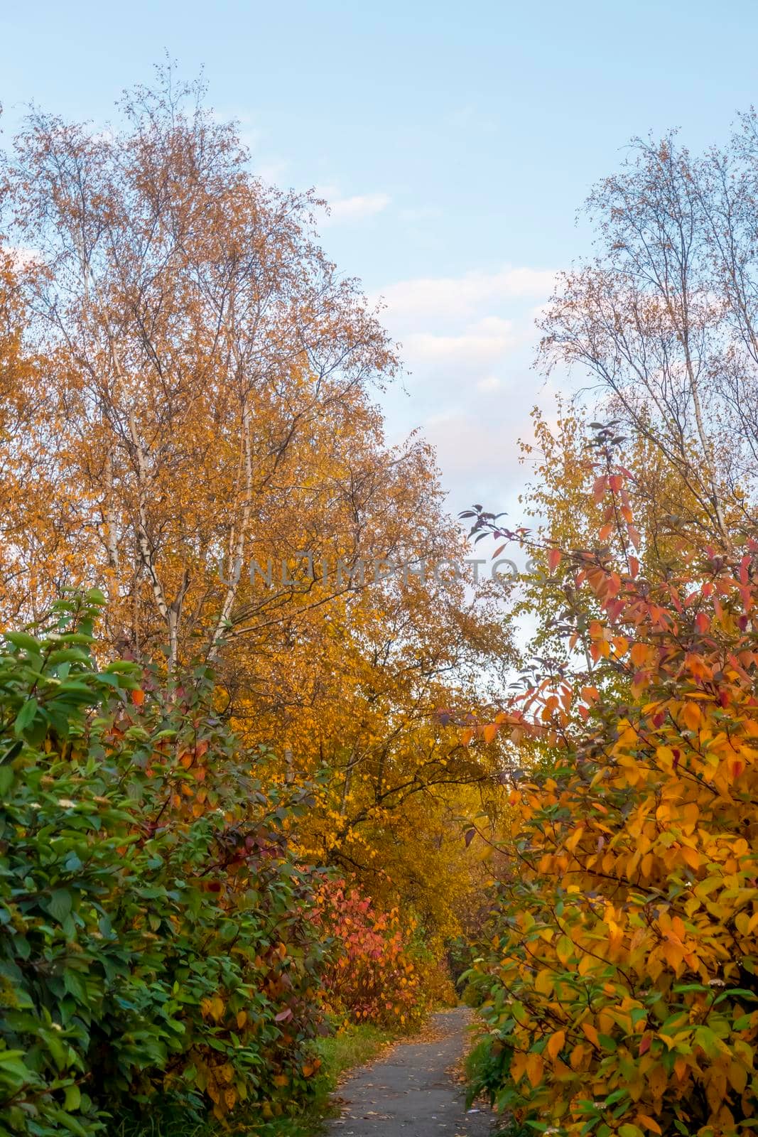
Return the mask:
[[[330,1096],[340,1077],[352,1067],[364,1065],[381,1052],[394,1036],[376,1027],[349,1027],[339,1035],[330,1035],[317,1044],[322,1068],[308,1107],[297,1117],[273,1118],[255,1126],[222,1128],[214,1121],[200,1120],[186,1110],[153,1111],[140,1123],[122,1121],[109,1130],[113,1137],[222,1137],[222,1134],[248,1134],[249,1137],[317,1137],[324,1121],[332,1113]]]

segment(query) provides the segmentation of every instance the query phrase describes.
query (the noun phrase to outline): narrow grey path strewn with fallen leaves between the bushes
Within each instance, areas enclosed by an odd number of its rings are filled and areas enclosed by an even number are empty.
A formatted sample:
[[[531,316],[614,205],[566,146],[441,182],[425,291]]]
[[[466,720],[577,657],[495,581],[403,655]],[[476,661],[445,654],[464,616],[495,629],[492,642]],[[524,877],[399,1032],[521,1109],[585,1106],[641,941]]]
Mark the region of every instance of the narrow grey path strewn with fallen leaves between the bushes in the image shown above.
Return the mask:
[[[486,1137],[491,1115],[466,1111],[455,1070],[470,1011],[435,1014],[422,1041],[399,1043],[342,1086],[344,1110],[331,1137]]]

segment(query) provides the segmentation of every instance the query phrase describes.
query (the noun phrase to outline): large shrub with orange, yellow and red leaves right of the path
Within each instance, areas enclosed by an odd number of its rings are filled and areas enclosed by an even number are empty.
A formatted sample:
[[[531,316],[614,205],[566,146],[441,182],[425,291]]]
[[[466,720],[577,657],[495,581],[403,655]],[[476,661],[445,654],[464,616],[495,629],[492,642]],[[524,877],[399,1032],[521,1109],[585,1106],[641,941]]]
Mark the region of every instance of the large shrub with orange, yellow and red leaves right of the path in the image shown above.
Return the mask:
[[[564,1134],[734,1137],[758,1117],[758,542],[681,555],[659,582],[631,555],[566,555],[599,612],[593,682],[522,703],[536,758],[474,980],[492,1096]]]

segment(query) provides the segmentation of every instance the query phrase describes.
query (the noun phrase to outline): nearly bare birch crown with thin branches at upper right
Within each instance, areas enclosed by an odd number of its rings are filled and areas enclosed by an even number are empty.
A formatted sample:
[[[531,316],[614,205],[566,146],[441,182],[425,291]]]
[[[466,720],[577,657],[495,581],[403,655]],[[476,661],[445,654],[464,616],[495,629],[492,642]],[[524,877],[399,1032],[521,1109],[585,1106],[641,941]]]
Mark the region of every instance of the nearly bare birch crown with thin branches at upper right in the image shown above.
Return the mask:
[[[597,259],[564,274],[542,325],[543,360],[575,366],[675,475],[672,523],[726,549],[756,491],[757,139],[751,111],[705,157],[638,140],[586,202]]]

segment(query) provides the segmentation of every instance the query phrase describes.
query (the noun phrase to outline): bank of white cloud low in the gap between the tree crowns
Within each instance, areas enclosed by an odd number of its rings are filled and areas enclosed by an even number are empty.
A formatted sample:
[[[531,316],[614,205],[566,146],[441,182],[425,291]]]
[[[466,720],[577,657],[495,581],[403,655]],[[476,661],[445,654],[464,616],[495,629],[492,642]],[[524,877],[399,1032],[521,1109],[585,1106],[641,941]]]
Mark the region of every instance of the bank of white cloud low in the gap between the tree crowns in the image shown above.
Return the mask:
[[[409,397],[390,391],[385,399],[389,433],[420,426],[453,513],[485,499],[502,508],[523,488],[518,439],[532,438],[534,404],[551,405],[530,365],[534,317],[553,284],[551,271],[505,265],[398,281],[375,297],[409,371]]]

